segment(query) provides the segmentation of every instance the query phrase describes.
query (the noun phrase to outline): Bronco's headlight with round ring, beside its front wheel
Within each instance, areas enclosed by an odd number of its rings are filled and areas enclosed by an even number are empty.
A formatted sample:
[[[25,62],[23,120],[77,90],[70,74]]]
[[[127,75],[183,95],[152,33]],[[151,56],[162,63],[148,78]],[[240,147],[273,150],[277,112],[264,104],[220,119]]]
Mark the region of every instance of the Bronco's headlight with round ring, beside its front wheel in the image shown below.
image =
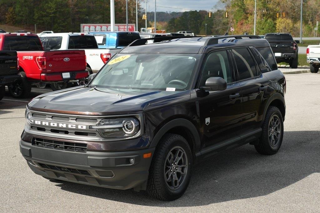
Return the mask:
[[[139,132],[140,121],[137,118],[106,118],[90,129],[98,130],[104,138],[129,138]]]

